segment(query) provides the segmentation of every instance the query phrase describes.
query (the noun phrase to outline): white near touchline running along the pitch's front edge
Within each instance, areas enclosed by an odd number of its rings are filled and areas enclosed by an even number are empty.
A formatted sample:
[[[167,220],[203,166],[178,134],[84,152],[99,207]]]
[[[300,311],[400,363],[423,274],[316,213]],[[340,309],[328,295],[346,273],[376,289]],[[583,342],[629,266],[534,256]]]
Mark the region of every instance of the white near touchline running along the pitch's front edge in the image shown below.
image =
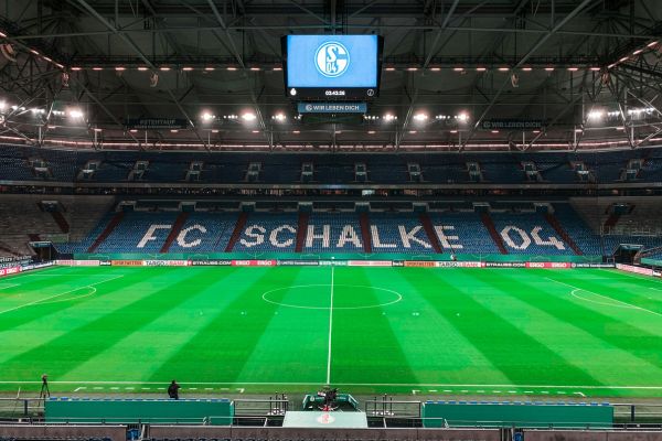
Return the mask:
[[[53,385],[163,385],[169,383],[169,380],[163,381],[49,381],[49,384]],[[19,380],[19,381],[0,381],[0,385],[41,385],[41,381],[32,381],[32,380]],[[319,386],[319,383],[274,383],[274,381],[229,381],[229,383],[213,383],[213,381],[186,381],[185,385],[196,385],[196,386]],[[591,385],[591,386],[567,386],[567,385],[485,385],[485,384],[419,384],[419,383],[337,383],[339,386],[391,386],[391,387],[456,387],[456,388],[467,388],[467,387],[501,387],[501,388],[517,388],[517,389],[544,389],[541,394],[547,392],[547,389],[591,389],[591,390],[600,390],[600,389],[627,389],[627,390],[662,390],[661,386],[605,386],[605,385]],[[96,388],[95,388],[96,389]],[[113,389],[113,388],[111,388]],[[164,388],[158,388],[164,389]],[[229,388],[220,388],[221,390],[229,390]],[[449,389],[447,389],[449,390]],[[447,391],[444,390],[444,391]],[[502,390],[492,390],[493,394],[500,394]]]

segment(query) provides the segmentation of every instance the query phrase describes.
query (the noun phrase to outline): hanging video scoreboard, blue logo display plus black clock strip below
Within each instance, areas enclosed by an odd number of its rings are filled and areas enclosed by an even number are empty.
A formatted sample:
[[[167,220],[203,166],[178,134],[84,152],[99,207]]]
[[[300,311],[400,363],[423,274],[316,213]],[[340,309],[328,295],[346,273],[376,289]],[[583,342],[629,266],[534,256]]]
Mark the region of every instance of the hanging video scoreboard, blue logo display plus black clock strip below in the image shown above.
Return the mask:
[[[281,40],[286,94],[298,100],[365,100],[380,93],[380,35],[287,35]]]

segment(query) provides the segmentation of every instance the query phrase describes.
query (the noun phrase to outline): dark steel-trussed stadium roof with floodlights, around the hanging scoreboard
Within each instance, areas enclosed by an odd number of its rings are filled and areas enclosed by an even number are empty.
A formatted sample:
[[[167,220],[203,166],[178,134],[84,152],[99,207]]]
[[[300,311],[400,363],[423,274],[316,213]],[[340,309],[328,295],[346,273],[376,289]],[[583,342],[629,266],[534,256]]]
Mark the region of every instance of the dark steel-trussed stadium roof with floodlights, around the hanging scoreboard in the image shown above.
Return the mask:
[[[8,0],[0,140],[214,151],[637,148],[662,140],[661,31],[659,0]],[[299,118],[281,71],[280,37],[291,33],[384,36],[381,96],[365,117]],[[129,130],[138,118],[184,123]],[[494,120],[533,126],[496,130]]]

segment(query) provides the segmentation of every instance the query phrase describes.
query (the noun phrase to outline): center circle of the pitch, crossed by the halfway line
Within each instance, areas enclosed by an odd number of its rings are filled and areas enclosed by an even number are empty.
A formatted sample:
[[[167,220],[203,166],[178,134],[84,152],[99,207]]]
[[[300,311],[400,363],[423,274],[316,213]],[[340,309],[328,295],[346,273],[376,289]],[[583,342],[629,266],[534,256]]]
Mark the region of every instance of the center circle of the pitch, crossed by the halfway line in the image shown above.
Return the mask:
[[[397,303],[403,295],[387,288],[363,284],[312,283],[276,288],[263,293],[265,302],[306,310],[329,310],[333,288],[334,310],[364,310]]]

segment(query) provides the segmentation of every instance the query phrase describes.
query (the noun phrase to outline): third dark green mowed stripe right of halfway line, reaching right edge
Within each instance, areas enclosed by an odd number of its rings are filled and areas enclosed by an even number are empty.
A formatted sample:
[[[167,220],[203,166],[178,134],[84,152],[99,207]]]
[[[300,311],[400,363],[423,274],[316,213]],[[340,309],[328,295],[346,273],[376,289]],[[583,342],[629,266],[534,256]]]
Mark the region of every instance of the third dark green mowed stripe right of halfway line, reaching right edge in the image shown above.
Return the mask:
[[[559,275],[547,273],[547,277],[553,276],[551,277],[552,279],[564,281]],[[585,306],[578,302],[570,301],[567,292],[563,292],[562,290],[559,294],[558,290],[553,291],[544,283],[527,283],[524,281],[524,278],[515,278],[508,273],[503,275],[503,277],[494,278],[492,282],[504,289],[517,283],[525,291],[513,290],[511,295],[540,308],[557,320],[572,321],[575,326],[588,332],[596,338],[602,340],[607,344],[624,352],[629,352],[643,362],[662,367],[662,338],[660,335],[651,334],[623,320],[604,314],[591,308],[590,303],[587,303]],[[643,313],[640,314],[641,318],[638,319],[644,320],[647,318]],[[662,321],[660,323],[662,324]],[[609,361],[605,362],[609,363]]]

